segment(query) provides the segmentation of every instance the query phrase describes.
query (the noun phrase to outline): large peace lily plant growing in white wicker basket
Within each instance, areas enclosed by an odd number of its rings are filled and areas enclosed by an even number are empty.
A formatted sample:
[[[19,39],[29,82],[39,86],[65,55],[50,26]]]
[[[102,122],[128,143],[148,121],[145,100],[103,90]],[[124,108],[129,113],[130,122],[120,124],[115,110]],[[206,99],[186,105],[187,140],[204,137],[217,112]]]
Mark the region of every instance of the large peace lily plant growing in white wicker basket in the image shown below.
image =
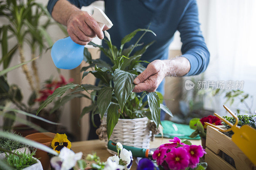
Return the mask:
[[[140,36],[136,43],[134,45],[130,45],[128,48],[124,48],[125,43],[131,41],[131,39],[139,31],[143,31],[144,33]],[[92,112],[92,118],[93,115],[100,114],[101,119],[103,119],[104,114],[107,113],[108,139],[111,136],[119,118],[134,119],[147,116],[150,120],[153,120],[156,127],[158,127],[160,123],[161,109],[172,116],[171,111],[160,103],[159,97],[162,101],[163,96],[157,92],[143,92],[141,96],[132,92],[133,88],[135,87],[133,80],[137,77],[137,75],[146,69],[141,63],[148,63],[147,61],[140,61],[140,58],[145,53],[147,48],[154,43],[154,41],[152,41],[149,44],[146,44],[140,50],[133,52],[136,47],[143,45],[143,43],[139,44],[139,41],[147,32],[156,35],[149,29],[136,29],[122,39],[119,49],[112,44],[110,35],[107,31],[105,31],[105,37],[107,37],[107,39],[104,39],[104,42],[108,45],[108,48],[103,48],[103,46],[90,42],[89,45],[100,48],[100,50],[112,62],[111,66],[102,59],[94,60],[92,59],[92,56],[88,52],[87,48],[84,48],[84,61],[88,63],[89,66],[82,68],[82,78],[91,73],[96,78],[100,79],[99,84],[78,85],[70,83],[63,87],[59,87],[38,108],[36,114],[50,104],[54,98],[62,96],[65,92],[67,92],[68,89],[76,88],[73,92],[70,92],[62,97],[62,99],[59,100],[57,107],[60,107],[75,97],[86,97],[92,100],[92,105],[83,108],[81,117],[88,112]],[[94,70],[87,71],[92,67],[94,67]],[[92,92],[88,92],[88,90],[92,90]],[[88,92],[90,97],[83,93],[79,93],[82,91]],[[146,96],[147,101],[143,101]],[[147,105],[148,108],[145,108]]]

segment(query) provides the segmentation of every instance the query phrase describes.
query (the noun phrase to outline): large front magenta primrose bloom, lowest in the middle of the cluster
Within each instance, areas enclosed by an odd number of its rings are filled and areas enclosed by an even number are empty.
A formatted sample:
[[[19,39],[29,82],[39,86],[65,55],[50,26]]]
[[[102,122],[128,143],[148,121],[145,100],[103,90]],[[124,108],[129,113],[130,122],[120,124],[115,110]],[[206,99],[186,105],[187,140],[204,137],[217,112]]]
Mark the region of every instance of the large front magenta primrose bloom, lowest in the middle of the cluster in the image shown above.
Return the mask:
[[[189,165],[189,155],[183,147],[172,148],[171,152],[166,153],[165,161],[170,169],[185,169]]]

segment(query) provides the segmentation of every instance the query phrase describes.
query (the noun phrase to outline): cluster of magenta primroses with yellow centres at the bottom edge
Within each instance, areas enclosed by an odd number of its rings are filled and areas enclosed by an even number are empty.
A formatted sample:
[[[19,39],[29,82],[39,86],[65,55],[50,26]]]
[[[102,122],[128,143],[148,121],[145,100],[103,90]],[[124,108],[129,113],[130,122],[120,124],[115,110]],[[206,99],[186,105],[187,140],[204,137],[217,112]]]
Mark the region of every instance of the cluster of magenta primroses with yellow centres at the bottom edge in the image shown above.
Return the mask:
[[[171,143],[160,145],[152,155],[160,169],[204,170],[207,168],[207,163],[200,162],[200,158],[206,153],[201,145],[192,145],[188,140],[181,142],[178,137],[169,141]],[[145,164],[145,162],[142,161],[138,165],[139,168],[143,169],[141,164]],[[149,165],[150,162],[144,168]]]

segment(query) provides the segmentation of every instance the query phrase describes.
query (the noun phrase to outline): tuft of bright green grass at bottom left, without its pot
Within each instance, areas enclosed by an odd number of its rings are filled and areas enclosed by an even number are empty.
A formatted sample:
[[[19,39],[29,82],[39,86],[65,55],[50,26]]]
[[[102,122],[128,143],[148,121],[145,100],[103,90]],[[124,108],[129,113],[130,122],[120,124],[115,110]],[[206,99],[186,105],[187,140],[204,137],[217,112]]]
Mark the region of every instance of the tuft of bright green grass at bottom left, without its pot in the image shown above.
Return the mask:
[[[16,154],[6,154],[6,162],[12,166],[15,169],[23,169],[26,168],[30,165],[33,165],[37,163],[36,159],[33,158],[33,156],[36,154],[35,152],[26,154],[20,153],[20,152],[15,152]]]

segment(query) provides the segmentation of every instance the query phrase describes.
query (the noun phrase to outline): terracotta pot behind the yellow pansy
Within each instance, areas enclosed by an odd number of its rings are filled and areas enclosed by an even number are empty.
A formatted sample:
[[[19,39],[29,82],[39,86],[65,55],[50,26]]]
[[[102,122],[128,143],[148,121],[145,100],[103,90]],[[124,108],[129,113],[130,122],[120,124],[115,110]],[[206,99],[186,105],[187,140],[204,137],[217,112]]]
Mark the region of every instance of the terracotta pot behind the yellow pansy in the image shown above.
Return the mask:
[[[38,143],[44,144],[46,146],[50,146],[52,139],[54,138],[56,134],[55,133],[51,133],[51,132],[44,132],[44,133],[34,133],[31,135],[26,136],[26,138],[34,140]],[[47,154],[47,152],[44,152],[40,149],[36,150],[36,155],[35,157],[37,159],[40,160],[40,162],[42,163],[43,169],[44,170],[48,170],[51,169],[50,167],[50,159],[49,156]]]

